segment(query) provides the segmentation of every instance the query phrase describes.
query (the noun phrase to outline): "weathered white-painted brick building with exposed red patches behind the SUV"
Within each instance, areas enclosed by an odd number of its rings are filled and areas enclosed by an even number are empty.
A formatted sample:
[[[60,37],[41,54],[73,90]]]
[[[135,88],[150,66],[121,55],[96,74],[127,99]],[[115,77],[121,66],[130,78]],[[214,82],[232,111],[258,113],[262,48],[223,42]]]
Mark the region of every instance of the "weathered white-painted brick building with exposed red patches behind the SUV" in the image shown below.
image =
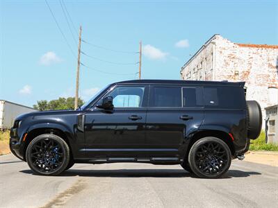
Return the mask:
[[[246,99],[278,104],[278,45],[238,44],[213,35],[181,67],[183,80],[245,81]],[[264,127],[264,125],[263,125]]]

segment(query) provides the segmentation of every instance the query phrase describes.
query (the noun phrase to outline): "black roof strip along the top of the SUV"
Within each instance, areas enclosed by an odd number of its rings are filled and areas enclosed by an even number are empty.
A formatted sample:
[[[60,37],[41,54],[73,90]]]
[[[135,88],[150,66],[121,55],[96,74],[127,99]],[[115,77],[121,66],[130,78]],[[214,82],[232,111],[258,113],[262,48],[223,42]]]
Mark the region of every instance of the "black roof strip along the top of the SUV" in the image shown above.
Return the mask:
[[[227,81],[202,81],[202,80],[126,80],[117,84],[167,84],[167,85],[224,85],[243,87],[245,82],[232,83]]]

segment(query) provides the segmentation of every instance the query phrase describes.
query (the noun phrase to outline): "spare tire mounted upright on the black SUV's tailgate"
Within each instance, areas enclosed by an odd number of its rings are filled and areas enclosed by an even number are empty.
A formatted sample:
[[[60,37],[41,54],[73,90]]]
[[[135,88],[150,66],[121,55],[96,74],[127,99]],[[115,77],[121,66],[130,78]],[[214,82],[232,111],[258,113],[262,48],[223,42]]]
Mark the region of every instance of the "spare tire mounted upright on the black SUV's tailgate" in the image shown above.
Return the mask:
[[[246,101],[247,104],[247,137],[256,139],[261,133],[261,106],[257,101]]]

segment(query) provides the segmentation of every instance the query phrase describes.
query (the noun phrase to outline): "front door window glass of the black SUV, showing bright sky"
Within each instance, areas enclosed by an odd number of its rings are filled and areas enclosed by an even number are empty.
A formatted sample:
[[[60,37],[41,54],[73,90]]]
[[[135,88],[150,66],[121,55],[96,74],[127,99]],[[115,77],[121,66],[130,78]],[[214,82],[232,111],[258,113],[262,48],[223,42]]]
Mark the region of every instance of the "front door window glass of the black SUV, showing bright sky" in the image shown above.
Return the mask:
[[[145,87],[116,87],[106,96],[113,97],[114,107],[141,107]]]

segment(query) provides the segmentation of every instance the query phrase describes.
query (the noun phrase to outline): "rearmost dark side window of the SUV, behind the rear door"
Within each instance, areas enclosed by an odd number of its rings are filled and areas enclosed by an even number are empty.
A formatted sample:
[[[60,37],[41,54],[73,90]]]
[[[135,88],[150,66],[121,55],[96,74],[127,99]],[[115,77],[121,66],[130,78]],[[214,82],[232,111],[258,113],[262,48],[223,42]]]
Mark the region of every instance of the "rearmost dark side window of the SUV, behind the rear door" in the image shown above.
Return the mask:
[[[240,109],[245,106],[244,89],[241,87],[204,87],[204,105]]]

